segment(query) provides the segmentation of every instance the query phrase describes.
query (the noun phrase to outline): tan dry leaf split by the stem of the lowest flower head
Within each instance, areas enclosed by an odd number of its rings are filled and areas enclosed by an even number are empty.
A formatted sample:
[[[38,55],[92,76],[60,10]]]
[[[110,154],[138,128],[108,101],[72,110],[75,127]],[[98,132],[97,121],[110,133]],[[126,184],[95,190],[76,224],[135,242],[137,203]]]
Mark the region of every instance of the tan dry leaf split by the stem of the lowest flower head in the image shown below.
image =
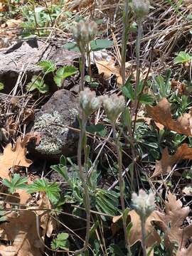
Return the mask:
[[[146,219],[146,245],[147,247],[151,247],[155,243],[159,244],[161,242],[161,238],[157,231],[155,230],[154,226],[152,225],[152,221],[161,222],[161,218],[157,215],[157,211],[154,210],[151,215]],[[142,241],[142,225],[139,215],[136,213],[135,210],[129,211],[129,216],[132,221],[132,228],[130,230],[130,237],[129,243],[130,245],[134,245],[137,241]]]

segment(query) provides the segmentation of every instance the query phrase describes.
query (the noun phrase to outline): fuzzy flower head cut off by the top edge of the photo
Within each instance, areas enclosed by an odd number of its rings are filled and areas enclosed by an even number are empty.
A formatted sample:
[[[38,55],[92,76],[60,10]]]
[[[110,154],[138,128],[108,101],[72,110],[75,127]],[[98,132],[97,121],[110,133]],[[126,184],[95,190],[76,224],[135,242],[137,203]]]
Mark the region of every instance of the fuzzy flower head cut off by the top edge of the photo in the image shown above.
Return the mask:
[[[133,0],[133,9],[137,18],[144,18],[149,13],[149,0]]]

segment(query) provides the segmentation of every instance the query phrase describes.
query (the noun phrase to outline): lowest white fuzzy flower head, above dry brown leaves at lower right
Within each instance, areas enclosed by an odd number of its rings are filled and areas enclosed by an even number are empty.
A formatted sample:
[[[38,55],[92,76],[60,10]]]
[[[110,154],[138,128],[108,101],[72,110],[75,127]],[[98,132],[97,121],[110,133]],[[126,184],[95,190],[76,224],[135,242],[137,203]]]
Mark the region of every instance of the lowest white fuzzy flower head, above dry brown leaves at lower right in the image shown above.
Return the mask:
[[[139,190],[139,195],[132,193],[133,207],[140,218],[149,217],[155,208],[154,201],[154,193],[149,193],[148,195],[143,189]]]

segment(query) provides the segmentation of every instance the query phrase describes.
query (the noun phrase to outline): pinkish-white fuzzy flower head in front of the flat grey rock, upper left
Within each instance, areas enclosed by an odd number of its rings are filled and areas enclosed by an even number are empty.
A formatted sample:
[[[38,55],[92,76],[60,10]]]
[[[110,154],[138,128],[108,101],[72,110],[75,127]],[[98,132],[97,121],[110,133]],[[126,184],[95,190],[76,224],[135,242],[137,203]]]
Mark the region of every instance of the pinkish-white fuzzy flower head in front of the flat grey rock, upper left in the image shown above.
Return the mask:
[[[73,38],[81,51],[85,49],[87,43],[90,43],[97,35],[97,23],[95,21],[79,21],[73,26]]]

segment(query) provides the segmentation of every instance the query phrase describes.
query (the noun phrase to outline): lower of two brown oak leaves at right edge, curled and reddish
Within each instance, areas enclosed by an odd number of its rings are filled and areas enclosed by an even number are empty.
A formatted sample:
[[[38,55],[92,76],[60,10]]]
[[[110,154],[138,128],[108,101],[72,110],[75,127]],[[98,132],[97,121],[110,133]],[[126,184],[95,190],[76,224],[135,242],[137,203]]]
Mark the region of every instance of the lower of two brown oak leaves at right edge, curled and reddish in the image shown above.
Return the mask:
[[[192,160],[192,148],[188,147],[188,144],[183,143],[178,147],[174,155],[170,155],[167,148],[164,149],[161,160],[156,161],[155,171],[151,178],[159,175],[169,174],[171,172],[171,166],[176,164],[177,161],[182,159]]]

